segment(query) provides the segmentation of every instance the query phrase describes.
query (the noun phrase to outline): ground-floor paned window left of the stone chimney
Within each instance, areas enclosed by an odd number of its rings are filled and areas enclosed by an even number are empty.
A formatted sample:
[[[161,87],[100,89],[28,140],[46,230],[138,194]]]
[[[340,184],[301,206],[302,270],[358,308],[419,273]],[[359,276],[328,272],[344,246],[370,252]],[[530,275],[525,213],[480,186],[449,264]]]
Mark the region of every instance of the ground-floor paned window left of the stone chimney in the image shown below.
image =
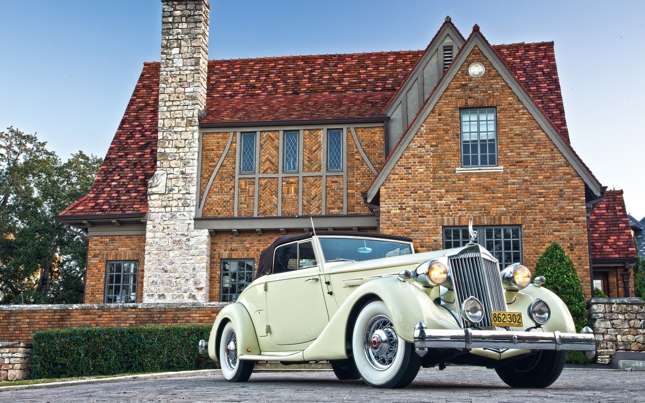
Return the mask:
[[[137,302],[139,262],[112,260],[106,266],[105,303]]]

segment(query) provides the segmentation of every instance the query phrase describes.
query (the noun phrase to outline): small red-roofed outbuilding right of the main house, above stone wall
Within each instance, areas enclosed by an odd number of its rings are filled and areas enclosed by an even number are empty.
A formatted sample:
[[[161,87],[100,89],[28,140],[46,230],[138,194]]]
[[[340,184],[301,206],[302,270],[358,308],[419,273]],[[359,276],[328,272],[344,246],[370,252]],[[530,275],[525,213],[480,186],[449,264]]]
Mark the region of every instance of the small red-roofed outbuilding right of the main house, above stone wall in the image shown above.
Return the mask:
[[[636,248],[622,190],[607,190],[591,211],[593,286],[610,298],[633,297]]]

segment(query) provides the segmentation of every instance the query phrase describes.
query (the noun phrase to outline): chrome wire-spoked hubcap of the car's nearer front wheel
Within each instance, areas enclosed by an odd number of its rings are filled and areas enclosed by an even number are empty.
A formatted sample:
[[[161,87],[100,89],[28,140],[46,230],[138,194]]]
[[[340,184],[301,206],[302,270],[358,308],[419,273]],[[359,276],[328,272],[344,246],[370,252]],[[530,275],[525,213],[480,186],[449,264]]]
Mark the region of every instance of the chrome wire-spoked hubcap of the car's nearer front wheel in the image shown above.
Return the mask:
[[[375,369],[389,368],[399,349],[399,338],[392,321],[379,315],[370,320],[365,331],[365,355]]]

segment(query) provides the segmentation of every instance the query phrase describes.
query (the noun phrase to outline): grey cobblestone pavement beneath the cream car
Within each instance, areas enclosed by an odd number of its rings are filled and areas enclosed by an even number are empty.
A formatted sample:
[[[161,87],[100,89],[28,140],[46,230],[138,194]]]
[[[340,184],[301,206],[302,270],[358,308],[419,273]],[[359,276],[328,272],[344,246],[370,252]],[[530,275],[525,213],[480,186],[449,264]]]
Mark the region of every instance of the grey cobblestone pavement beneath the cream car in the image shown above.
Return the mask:
[[[508,388],[492,370],[421,371],[404,389],[339,381],[330,371],[253,373],[233,384],[221,375],[0,391],[0,402],[642,402],[645,373],[565,369],[546,389]]]

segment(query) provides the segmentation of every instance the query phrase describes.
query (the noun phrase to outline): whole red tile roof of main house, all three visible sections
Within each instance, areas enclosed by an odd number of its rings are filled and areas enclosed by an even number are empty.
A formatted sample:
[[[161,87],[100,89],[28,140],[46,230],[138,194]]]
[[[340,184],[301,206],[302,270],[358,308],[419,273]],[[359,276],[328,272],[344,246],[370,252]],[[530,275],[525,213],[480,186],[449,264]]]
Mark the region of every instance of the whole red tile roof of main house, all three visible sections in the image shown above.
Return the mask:
[[[493,47],[546,116],[566,133],[553,43]],[[382,112],[423,53],[209,61],[206,116],[201,122],[370,117]],[[147,184],[156,166],[158,91],[159,63],[145,63],[94,186],[61,216],[146,213]]]

